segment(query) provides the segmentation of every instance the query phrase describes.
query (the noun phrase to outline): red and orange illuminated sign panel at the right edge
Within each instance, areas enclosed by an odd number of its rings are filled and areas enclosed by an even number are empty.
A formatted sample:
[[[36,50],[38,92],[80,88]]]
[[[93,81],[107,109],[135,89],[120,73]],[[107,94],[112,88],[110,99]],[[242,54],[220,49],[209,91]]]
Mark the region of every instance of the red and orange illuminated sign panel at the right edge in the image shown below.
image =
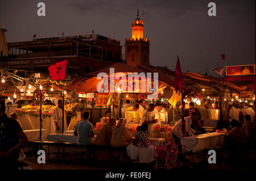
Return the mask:
[[[226,75],[255,75],[255,64],[226,66]]]

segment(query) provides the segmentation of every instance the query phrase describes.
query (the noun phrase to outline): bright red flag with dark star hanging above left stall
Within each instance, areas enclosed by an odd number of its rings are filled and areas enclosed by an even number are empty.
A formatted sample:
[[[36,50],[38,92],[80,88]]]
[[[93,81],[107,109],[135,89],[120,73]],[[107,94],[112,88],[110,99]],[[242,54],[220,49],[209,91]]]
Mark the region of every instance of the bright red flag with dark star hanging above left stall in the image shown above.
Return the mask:
[[[65,79],[67,62],[68,62],[68,60],[63,60],[60,62],[56,62],[55,64],[48,67],[49,74],[51,75],[51,79],[53,81]]]

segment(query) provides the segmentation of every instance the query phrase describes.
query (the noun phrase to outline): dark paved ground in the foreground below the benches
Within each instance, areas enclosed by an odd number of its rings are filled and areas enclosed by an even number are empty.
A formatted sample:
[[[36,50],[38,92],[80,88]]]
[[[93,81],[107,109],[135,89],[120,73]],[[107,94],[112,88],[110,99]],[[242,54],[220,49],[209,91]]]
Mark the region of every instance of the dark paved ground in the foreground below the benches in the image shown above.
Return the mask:
[[[179,169],[195,169],[195,170],[255,170],[255,152],[249,151],[247,155],[243,155],[241,159],[226,159],[224,156],[217,159],[217,164],[209,164],[204,161],[192,162],[189,159],[187,165]],[[153,165],[141,164],[138,162],[133,163],[119,163],[119,162],[106,162],[106,161],[86,161],[81,158],[66,158],[46,159],[46,164],[39,164],[35,158],[26,158],[25,162],[30,165],[33,170],[134,170],[134,169],[152,169]]]

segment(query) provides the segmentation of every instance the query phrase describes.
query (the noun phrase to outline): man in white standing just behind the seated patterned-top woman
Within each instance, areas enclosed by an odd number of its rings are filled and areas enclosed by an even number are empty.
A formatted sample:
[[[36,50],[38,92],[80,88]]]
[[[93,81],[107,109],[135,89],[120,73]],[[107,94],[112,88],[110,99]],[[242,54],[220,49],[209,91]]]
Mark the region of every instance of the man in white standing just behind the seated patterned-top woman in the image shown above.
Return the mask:
[[[142,119],[141,119],[141,124],[147,123],[148,125],[148,132],[149,132],[149,137],[153,137],[153,124],[157,122],[156,119],[152,120],[150,112],[154,111],[154,104],[149,104],[147,107],[147,110],[144,110],[142,113]]]

